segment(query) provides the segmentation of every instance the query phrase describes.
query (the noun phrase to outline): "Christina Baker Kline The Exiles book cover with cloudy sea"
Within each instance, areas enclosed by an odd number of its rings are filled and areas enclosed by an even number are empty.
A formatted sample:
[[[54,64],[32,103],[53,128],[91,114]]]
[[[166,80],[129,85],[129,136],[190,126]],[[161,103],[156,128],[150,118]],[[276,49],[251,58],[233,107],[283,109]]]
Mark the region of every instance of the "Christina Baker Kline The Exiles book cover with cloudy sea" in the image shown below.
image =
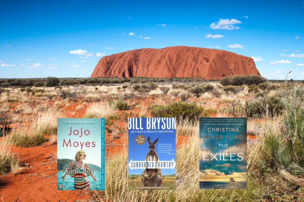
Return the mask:
[[[200,189],[247,188],[247,118],[199,119]]]

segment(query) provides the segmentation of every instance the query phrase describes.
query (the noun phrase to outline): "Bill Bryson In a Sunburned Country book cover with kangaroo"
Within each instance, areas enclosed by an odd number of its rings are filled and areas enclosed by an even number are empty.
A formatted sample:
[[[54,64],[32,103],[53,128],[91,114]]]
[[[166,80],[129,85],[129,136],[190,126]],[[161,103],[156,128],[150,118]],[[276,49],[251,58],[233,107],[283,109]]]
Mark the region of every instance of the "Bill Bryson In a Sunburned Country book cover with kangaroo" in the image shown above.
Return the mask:
[[[128,186],[175,189],[175,118],[129,118]]]

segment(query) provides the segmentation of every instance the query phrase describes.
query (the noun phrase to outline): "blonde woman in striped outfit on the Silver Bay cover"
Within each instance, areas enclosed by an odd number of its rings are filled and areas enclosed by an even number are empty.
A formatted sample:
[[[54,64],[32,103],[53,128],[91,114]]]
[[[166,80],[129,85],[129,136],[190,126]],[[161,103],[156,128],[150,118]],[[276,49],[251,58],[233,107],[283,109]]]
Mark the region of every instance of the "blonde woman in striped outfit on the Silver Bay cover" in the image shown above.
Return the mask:
[[[78,150],[75,155],[75,161],[71,162],[70,169],[68,169],[68,171],[66,171],[61,177],[62,180],[64,180],[67,175],[74,177],[74,189],[76,190],[89,190],[90,183],[87,178],[88,174],[90,174],[93,180],[96,181],[96,178],[93,176],[88,164],[83,161],[85,160],[85,157],[85,151]]]

